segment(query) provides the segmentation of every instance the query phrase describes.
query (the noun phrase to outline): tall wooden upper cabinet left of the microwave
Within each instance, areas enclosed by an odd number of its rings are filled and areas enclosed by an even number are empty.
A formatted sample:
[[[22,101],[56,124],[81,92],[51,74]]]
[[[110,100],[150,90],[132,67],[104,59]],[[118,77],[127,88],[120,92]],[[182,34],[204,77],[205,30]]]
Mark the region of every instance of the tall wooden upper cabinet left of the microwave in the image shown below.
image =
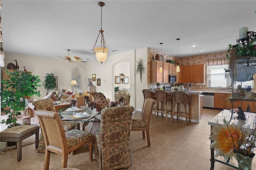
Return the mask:
[[[160,73],[160,67],[163,72]],[[150,61],[150,83],[168,83],[169,81],[169,63],[152,60]]]

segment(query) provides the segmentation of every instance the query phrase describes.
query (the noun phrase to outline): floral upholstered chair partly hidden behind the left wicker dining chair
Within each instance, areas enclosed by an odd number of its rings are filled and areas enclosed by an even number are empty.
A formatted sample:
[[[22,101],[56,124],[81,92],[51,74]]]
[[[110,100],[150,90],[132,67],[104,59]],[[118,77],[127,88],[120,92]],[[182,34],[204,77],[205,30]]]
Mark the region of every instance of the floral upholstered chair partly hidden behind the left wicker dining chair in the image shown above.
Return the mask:
[[[46,110],[46,111],[53,111],[53,112],[56,111],[54,107],[54,101],[52,99],[42,99],[42,100],[34,101],[32,105],[34,106],[33,109],[35,111],[36,110]],[[38,117],[34,114],[33,119],[38,120]],[[64,127],[65,132],[68,132],[69,130],[72,130],[72,129],[80,129],[80,125],[76,121],[62,121],[62,125]],[[45,152],[44,135],[42,132],[40,134],[37,152],[38,153]]]

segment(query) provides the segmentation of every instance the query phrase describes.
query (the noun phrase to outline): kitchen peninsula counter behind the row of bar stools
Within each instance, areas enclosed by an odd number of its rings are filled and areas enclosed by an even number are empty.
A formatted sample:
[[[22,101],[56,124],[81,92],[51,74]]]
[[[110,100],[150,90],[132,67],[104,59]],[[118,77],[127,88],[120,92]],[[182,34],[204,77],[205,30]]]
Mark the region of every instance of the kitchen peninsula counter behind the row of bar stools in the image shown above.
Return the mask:
[[[151,90],[151,91],[156,91],[156,90]],[[165,90],[166,92],[168,93],[173,93],[174,91],[171,91],[171,90]],[[188,93],[188,95],[191,96],[191,117],[190,117],[190,121],[191,122],[194,122],[194,123],[200,123],[200,120],[202,119],[202,96],[201,93],[202,91],[184,91],[186,93]],[[172,103],[173,104],[173,103]],[[172,105],[171,104],[168,104],[167,107],[171,108]],[[184,111],[184,107],[181,107],[180,108],[181,111]],[[189,105],[187,106],[187,111],[189,109]],[[176,109],[174,109],[174,111],[177,110],[177,107]],[[168,117],[171,117],[171,115],[168,115]],[[176,116],[174,116],[174,118],[176,119]],[[174,120],[175,120],[174,119]],[[182,117],[180,116],[179,119],[182,119],[182,120],[186,120],[185,117]]]

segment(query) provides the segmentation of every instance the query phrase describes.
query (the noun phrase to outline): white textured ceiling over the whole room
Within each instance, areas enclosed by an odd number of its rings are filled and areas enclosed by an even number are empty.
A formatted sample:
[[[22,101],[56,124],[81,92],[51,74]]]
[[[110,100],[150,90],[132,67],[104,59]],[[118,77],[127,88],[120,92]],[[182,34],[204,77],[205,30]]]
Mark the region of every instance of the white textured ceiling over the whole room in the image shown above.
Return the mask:
[[[5,52],[59,60],[56,55],[67,55],[71,49],[70,55],[84,61],[96,59],[92,48],[100,30],[98,0],[1,2]],[[162,42],[162,52],[177,56],[176,38],[180,38],[178,57],[225,51],[236,43],[239,28],[256,32],[255,0],[103,2],[108,55],[143,47],[160,51]]]

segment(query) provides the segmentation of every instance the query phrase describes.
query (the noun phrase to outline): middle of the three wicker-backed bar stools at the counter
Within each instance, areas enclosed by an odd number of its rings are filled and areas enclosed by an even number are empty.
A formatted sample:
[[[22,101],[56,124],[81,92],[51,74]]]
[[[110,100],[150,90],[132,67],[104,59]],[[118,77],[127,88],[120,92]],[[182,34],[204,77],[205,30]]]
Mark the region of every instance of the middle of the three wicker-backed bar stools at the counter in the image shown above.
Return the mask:
[[[172,105],[171,105],[171,109],[167,110],[167,102],[170,101],[172,103],[172,94],[167,93],[166,91],[163,91],[163,90],[156,90],[155,93],[156,93],[156,109],[155,109],[154,117],[156,115],[156,111],[160,113],[165,113],[165,118],[167,121],[167,113],[169,112],[172,113]],[[161,108],[158,109],[158,105],[160,102],[161,102]]]

